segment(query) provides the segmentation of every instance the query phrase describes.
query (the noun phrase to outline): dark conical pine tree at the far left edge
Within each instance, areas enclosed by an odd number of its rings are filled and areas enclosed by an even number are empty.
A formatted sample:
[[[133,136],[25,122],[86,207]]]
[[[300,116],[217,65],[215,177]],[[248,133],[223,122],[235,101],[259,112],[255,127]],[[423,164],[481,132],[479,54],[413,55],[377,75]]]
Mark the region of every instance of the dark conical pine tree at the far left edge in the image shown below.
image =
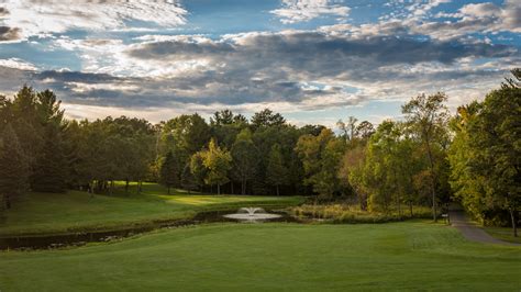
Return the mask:
[[[0,136],[0,196],[7,209],[11,206],[11,198],[27,190],[29,166],[16,134],[8,124]]]

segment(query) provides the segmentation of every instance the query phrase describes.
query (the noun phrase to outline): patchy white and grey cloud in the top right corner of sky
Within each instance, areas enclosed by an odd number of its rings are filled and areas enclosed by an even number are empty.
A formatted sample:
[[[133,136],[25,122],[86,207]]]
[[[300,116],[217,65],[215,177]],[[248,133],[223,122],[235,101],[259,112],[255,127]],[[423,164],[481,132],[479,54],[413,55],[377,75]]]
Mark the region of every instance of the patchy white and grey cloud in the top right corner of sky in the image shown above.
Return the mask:
[[[335,24],[319,30],[335,35],[348,35],[355,38],[375,36],[423,35],[437,41],[457,40],[462,42],[487,42],[488,34],[498,32],[521,33],[521,2],[507,0],[503,5],[494,3],[470,3],[463,5],[454,13],[428,12],[446,0],[429,3],[415,2],[408,7],[408,14],[401,18],[381,18],[379,22],[364,24]],[[441,21],[441,18],[448,20]]]

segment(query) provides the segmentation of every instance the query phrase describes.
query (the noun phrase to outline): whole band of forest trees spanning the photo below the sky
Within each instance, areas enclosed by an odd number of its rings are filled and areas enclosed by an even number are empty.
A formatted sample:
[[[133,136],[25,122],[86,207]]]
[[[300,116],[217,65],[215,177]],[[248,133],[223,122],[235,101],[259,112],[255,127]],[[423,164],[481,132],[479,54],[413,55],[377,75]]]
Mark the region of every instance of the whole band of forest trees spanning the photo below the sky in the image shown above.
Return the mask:
[[[0,96],[1,210],[27,191],[111,195],[115,181],[189,191],[308,195],[372,212],[451,201],[483,224],[511,226],[521,206],[521,69],[483,101],[451,114],[443,92],[419,94],[402,119],[348,116],[336,128],[296,126],[265,109],[230,110],[153,124],[135,117],[65,117],[51,90]]]

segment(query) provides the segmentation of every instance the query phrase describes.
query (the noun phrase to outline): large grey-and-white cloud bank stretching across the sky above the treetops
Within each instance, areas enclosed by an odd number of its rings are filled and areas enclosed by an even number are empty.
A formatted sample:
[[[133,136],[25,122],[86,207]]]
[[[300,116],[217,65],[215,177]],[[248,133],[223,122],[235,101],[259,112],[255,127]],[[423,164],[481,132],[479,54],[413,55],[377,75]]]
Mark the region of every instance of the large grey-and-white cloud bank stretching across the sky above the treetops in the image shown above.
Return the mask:
[[[92,106],[164,106],[201,113],[270,106],[292,112],[372,100],[404,101],[439,90],[466,100],[497,86],[509,64],[520,60],[506,46],[362,37],[380,32],[344,26],[353,34],[339,30],[251,32],[217,40],[146,35],[134,44],[59,38],[57,46],[78,52],[84,72],[38,78],[47,80],[45,87],[63,91],[68,102]],[[396,26],[389,24],[387,30]],[[461,88],[472,90],[465,96]]]

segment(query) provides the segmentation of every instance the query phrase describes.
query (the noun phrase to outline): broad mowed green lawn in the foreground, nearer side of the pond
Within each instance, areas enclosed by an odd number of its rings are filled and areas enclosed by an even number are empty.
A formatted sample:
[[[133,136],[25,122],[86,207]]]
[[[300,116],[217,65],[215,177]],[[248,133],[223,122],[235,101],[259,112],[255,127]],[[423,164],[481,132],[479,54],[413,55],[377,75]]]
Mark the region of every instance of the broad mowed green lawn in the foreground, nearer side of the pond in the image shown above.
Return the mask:
[[[214,224],[0,252],[1,291],[520,291],[521,248],[428,222]]]

